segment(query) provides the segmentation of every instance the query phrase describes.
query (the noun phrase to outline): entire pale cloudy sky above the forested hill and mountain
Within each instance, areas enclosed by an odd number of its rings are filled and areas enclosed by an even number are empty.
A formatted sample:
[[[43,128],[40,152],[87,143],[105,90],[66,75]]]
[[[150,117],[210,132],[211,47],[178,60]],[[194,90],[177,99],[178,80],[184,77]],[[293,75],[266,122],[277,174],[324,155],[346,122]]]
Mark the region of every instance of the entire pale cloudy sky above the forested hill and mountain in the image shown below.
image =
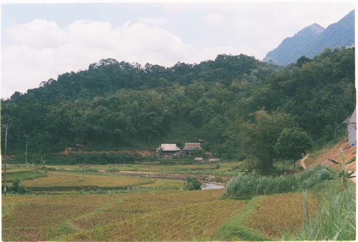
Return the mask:
[[[2,98],[106,58],[165,67],[218,54],[262,60],[284,38],[315,23],[327,28],[354,9],[352,1],[13,2],[1,4]]]

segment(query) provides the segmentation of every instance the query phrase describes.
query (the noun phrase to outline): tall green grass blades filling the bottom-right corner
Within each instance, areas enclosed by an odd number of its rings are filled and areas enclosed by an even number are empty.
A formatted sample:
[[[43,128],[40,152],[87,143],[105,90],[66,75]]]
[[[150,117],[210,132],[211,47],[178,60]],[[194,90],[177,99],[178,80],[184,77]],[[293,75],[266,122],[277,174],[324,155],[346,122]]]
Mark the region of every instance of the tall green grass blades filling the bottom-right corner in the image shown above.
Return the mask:
[[[355,240],[355,186],[332,192],[316,214],[293,235],[282,240]]]

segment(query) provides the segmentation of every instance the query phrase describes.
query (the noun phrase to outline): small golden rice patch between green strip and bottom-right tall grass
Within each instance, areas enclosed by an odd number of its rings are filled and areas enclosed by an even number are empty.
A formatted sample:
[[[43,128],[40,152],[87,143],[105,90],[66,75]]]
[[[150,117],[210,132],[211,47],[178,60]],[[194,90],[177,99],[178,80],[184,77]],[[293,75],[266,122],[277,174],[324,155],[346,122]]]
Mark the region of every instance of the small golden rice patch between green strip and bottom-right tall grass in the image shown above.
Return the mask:
[[[302,193],[264,196],[256,204],[256,211],[244,219],[243,225],[269,236],[280,236],[283,231],[293,232],[299,229],[306,219],[302,200]],[[308,214],[312,216],[317,212],[319,203],[310,193],[307,200]]]

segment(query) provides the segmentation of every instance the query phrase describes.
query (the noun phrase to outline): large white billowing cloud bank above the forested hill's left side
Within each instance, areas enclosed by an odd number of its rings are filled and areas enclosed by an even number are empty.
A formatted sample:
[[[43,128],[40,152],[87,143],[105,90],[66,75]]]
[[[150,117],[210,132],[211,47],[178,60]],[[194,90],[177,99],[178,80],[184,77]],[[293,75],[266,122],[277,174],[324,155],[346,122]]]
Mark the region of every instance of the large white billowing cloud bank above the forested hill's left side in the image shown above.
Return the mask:
[[[3,47],[2,97],[14,90],[25,93],[41,81],[65,72],[87,69],[103,58],[119,61],[174,65],[177,61],[200,61],[198,51],[167,30],[147,24],[124,24],[113,29],[105,21],[76,20],[59,28],[37,19],[13,25],[5,32],[14,44]],[[184,62],[184,61],[182,61]]]

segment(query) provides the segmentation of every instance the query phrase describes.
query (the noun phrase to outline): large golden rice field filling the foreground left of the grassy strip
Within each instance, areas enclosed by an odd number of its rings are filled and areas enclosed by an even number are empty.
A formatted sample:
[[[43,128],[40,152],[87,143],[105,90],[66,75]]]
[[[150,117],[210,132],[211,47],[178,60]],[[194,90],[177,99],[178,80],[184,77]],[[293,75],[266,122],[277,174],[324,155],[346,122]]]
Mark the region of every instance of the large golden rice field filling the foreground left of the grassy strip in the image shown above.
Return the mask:
[[[213,189],[109,194],[8,194],[2,204],[10,206],[9,212],[2,218],[3,240],[62,238],[103,241],[128,240],[128,236],[131,240],[167,240],[167,232],[174,230],[173,234],[178,239],[204,239],[245,204],[243,201],[218,201],[222,192]],[[123,237],[118,226],[121,229],[125,227],[123,233],[127,237]],[[133,228],[137,229],[133,231]],[[108,234],[111,229],[114,231]],[[128,231],[132,232],[128,234]]]

